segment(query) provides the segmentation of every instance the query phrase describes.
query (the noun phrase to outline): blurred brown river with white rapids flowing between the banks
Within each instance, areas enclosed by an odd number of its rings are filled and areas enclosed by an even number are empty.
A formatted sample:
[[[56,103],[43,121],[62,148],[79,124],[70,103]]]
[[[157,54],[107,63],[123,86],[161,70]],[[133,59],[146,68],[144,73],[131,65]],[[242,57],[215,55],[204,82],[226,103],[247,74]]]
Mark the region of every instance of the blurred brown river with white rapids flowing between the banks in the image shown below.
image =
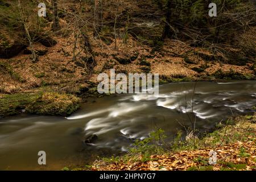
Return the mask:
[[[0,119],[0,169],[59,170],[82,167],[97,156],[125,152],[134,139],[143,139],[161,127],[168,139],[196,115],[200,131],[212,131],[232,114],[255,111],[256,81],[180,82],[159,86],[159,96],[121,94],[82,104],[70,117],[21,114]],[[192,96],[193,104],[192,104]],[[82,142],[96,134],[90,145]],[[45,151],[47,165],[39,166],[38,152]]]

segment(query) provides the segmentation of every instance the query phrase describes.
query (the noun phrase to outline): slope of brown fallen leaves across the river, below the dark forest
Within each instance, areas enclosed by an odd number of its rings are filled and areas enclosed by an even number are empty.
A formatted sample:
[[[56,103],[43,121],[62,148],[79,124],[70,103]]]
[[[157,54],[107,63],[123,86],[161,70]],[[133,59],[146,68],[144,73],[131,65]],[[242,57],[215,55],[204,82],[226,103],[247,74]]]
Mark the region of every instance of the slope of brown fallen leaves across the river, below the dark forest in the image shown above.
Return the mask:
[[[11,59],[0,59],[0,93],[13,94],[31,90],[51,89],[55,92],[81,93],[82,88],[97,83],[99,73],[158,73],[160,81],[250,80],[254,64],[233,65],[218,60],[207,49],[191,47],[179,40],[166,39],[162,50],[154,51],[134,39],[123,44],[97,44],[93,49],[93,68],[88,70],[85,57],[73,60],[73,38],[55,38],[57,44],[35,49],[45,52],[32,63],[31,55],[20,53]],[[87,58],[87,57],[86,57]]]

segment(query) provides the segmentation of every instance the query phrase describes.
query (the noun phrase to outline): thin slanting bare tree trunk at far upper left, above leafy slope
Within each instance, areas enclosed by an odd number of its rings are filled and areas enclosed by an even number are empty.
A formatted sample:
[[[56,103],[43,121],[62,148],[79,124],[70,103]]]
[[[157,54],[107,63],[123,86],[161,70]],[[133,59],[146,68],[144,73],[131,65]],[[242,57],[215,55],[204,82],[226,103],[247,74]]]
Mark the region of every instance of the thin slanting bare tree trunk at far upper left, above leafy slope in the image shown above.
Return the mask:
[[[34,44],[33,44],[33,41],[31,39],[30,32],[28,31],[26,21],[24,19],[24,11],[23,11],[23,8],[20,4],[20,0],[18,0],[18,6],[19,6],[20,18],[22,19],[24,30],[26,31],[27,39],[28,39],[28,42],[30,43],[30,48],[31,48],[31,52],[32,52],[32,62],[35,63],[38,60],[38,57],[36,56],[35,49],[34,49]]]

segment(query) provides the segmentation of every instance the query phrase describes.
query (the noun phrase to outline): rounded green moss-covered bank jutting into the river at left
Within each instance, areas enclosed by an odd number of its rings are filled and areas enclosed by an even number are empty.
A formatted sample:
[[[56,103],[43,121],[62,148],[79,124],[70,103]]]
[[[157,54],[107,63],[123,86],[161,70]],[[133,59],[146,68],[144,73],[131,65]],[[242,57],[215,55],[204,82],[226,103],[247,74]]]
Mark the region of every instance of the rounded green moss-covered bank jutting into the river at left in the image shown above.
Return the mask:
[[[4,94],[0,100],[0,117],[22,111],[42,115],[69,115],[79,108],[79,98],[59,93]]]

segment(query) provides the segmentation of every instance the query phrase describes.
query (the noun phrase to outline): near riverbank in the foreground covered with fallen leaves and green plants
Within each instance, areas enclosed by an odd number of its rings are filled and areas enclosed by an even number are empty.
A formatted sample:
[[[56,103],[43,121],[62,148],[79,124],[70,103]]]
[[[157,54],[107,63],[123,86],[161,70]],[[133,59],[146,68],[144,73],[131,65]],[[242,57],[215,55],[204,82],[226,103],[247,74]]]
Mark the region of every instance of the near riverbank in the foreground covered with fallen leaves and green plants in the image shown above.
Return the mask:
[[[239,116],[220,122],[218,129],[205,137],[174,140],[168,150],[164,147],[140,146],[128,154],[96,160],[89,170],[256,170],[256,115]],[[159,138],[158,138],[159,139]],[[138,147],[139,146],[139,147]],[[141,149],[142,149],[141,148]],[[154,150],[152,150],[154,148]],[[194,149],[195,148],[195,149]],[[209,164],[209,152],[217,153],[217,163]]]

